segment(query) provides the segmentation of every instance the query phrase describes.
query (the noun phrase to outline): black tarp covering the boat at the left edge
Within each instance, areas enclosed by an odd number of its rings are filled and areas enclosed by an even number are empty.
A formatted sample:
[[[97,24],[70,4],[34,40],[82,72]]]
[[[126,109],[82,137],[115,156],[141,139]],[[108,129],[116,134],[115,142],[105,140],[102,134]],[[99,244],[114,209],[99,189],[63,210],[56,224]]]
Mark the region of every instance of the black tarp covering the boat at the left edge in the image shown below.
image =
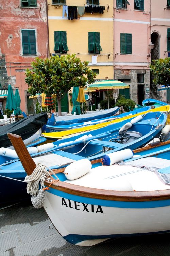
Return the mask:
[[[23,140],[26,140],[36,133],[39,128],[43,127],[47,123],[47,120],[47,113],[40,113],[28,116],[11,124],[0,126],[0,147],[12,146],[7,133],[20,135]]]

